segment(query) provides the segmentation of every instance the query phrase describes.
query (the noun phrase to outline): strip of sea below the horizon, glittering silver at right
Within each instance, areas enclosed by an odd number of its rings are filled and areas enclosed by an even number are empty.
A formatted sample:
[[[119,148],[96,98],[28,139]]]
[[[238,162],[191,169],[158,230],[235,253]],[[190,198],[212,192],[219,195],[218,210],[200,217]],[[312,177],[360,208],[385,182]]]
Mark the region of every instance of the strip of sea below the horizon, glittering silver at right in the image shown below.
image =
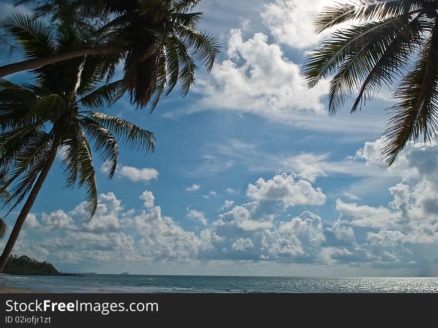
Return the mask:
[[[53,293],[438,293],[438,278],[1,275],[0,284]]]

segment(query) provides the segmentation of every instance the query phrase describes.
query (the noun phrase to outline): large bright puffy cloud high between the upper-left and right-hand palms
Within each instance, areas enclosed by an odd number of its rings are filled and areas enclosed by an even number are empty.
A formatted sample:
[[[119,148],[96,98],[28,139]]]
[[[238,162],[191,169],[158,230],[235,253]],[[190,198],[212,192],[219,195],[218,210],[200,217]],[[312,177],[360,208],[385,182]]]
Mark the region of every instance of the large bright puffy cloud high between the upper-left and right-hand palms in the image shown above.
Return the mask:
[[[268,43],[267,35],[243,40],[241,30],[233,29],[226,54],[210,79],[198,82],[195,92],[204,95],[200,108],[250,112],[283,123],[293,123],[300,114],[327,114],[321,99],[328,84],[323,81],[308,91],[300,66],[279,45]]]

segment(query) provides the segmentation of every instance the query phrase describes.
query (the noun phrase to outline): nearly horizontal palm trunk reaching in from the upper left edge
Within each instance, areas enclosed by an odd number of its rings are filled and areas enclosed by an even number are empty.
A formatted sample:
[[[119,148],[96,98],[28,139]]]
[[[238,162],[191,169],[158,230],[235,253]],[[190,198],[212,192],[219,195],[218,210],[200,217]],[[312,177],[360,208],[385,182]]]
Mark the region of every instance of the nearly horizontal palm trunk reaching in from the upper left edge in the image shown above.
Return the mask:
[[[0,67],[0,78],[21,71],[27,71],[34,68],[38,68],[41,66],[45,66],[48,64],[53,64],[56,62],[60,62],[67,59],[72,59],[76,57],[81,57],[85,55],[105,55],[111,52],[120,52],[121,49],[116,49],[112,47],[108,48],[89,48],[89,49],[76,49],[66,51],[60,54],[42,57],[42,58],[34,58],[29,60],[24,60],[22,62],[8,64]]]

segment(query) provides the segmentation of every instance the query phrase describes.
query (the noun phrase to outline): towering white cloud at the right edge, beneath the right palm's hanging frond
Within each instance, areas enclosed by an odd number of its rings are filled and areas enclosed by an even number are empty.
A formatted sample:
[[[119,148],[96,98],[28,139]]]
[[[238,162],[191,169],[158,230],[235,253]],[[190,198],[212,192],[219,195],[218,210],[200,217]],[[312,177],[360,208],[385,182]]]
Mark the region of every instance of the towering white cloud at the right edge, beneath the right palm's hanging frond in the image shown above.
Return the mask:
[[[380,165],[380,151],[385,137],[367,142],[357,156],[369,166]],[[388,171],[402,182],[389,188],[393,200],[387,207],[371,207],[336,201],[340,219],[351,226],[375,229],[366,233],[373,246],[432,244],[438,240],[437,176],[438,143],[409,142]],[[386,257],[391,258],[391,257]],[[382,259],[380,259],[383,261]]]

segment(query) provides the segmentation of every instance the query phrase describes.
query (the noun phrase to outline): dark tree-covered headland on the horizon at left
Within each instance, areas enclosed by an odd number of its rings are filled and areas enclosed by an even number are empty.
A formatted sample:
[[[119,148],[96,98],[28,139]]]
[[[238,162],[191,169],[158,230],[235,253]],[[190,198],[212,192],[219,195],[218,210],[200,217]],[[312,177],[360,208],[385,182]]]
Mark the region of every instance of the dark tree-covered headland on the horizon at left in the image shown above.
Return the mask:
[[[3,269],[3,273],[34,276],[81,276],[75,273],[63,273],[46,261],[39,262],[26,255],[11,255]]]

